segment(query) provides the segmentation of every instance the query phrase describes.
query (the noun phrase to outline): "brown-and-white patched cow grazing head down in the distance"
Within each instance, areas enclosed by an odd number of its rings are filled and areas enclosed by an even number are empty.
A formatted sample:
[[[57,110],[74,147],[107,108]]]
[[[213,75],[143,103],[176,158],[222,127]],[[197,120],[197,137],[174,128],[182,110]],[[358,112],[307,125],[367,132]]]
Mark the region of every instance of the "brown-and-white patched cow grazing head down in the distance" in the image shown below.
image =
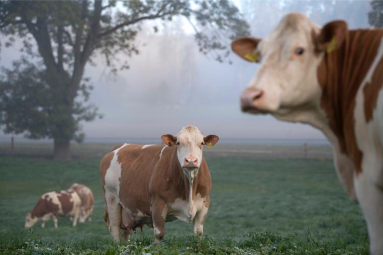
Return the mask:
[[[37,204],[25,217],[25,228],[31,228],[41,219],[41,227],[53,217],[55,228],[57,228],[57,216],[73,216],[73,226],[76,227],[80,215],[81,199],[73,189],[52,191],[43,194]]]

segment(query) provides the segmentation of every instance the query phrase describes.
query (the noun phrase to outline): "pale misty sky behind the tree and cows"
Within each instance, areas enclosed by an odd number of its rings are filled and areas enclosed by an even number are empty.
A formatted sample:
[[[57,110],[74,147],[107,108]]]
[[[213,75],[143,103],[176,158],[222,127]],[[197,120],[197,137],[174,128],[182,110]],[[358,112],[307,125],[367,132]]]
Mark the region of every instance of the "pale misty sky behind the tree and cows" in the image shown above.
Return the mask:
[[[289,12],[304,12],[323,25],[344,19],[349,28],[369,27],[369,1],[255,1],[235,0],[251,33],[263,37]],[[130,69],[109,74],[102,58],[86,67],[94,103],[102,119],[82,123],[88,138],[155,138],[177,134],[194,125],[205,135],[221,138],[325,139],[305,124],[287,123],[270,115],[240,111],[239,94],[254,76],[257,64],[232,54],[233,64],[218,63],[198,52],[193,31],[184,20],[168,23],[153,33],[144,23],[137,36],[140,54],[128,59]],[[19,57],[17,46],[1,49],[0,66],[9,67]],[[118,56],[121,60],[127,57]],[[0,133],[0,137],[8,137]]]

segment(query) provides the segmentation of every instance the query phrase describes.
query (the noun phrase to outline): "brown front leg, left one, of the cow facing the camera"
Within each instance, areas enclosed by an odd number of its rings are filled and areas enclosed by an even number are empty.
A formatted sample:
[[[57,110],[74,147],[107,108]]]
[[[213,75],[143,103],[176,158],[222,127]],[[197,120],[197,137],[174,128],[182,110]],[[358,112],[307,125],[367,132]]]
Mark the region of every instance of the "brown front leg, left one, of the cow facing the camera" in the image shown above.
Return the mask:
[[[165,219],[168,212],[164,201],[156,201],[153,203],[152,219],[154,227],[154,243],[158,244],[165,236]]]

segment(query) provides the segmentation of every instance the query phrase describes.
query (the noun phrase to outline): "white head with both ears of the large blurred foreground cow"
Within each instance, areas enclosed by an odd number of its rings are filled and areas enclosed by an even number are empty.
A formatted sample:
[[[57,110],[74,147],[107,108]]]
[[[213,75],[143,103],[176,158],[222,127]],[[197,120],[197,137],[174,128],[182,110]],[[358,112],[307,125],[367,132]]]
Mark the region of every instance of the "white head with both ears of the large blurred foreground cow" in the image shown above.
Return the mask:
[[[296,110],[320,104],[317,70],[323,55],[336,50],[346,32],[344,21],[320,28],[305,15],[290,13],[262,40],[234,40],[231,46],[237,55],[261,64],[241,94],[242,111],[301,121]]]

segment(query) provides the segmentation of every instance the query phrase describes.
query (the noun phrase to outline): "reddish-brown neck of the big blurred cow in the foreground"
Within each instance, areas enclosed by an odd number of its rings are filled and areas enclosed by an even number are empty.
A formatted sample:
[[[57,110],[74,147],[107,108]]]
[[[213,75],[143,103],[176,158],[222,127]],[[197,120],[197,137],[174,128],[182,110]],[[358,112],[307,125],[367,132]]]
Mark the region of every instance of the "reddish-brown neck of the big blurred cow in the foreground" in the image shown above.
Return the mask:
[[[377,55],[382,35],[383,30],[349,30],[340,47],[325,53],[318,66],[321,108],[341,152],[353,160],[357,172],[361,171],[362,152],[355,137],[355,100]]]

